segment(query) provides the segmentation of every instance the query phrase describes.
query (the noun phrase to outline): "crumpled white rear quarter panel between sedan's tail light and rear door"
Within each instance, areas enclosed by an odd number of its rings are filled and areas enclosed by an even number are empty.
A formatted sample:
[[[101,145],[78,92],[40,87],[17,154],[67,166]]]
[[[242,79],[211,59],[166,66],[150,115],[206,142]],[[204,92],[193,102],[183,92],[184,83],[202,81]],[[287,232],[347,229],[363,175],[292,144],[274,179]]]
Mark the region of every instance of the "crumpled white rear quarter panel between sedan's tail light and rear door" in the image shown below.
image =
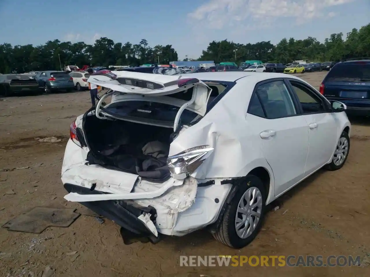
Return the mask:
[[[169,155],[201,145],[214,148],[192,177],[243,177],[256,167],[264,167],[273,184],[272,170],[262,153],[261,139],[248,131],[246,114],[254,87],[255,83],[249,83],[248,77],[240,79],[203,119],[182,131],[171,143]]]

